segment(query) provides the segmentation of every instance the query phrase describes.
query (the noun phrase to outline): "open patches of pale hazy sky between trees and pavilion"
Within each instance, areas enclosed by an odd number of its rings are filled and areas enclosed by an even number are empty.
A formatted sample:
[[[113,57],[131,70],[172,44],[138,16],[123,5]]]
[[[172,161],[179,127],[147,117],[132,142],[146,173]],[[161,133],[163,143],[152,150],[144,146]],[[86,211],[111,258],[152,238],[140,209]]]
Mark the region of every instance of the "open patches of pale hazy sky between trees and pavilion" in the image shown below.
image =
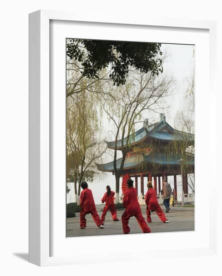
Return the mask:
[[[166,120],[169,124],[174,127],[174,117],[178,110],[181,110],[183,107],[183,97],[187,89],[187,79],[191,78],[193,75],[194,69],[194,57],[193,50],[194,46],[192,45],[176,45],[176,44],[162,44],[162,52],[166,53],[167,57],[164,63],[164,72],[171,76],[174,80],[173,83],[173,95],[167,97],[168,109],[163,110],[166,115]],[[156,120],[159,120],[159,115],[154,115]],[[138,127],[142,127],[138,125]],[[108,123],[105,128],[109,128]],[[109,162],[107,160],[107,162]],[[106,162],[105,162],[106,163]],[[181,179],[178,178],[178,193],[181,193]],[[138,178],[138,193],[140,192],[140,178]],[[168,177],[168,182],[173,185],[173,177]],[[146,179],[144,181],[144,190],[147,191]],[[101,179],[94,179],[93,183],[88,183],[89,188],[93,192],[95,203],[99,204],[100,198],[105,192],[105,186],[109,185],[112,190],[115,191],[115,176],[112,173],[103,173]],[[67,203],[73,202],[74,192],[73,185],[69,184],[71,191],[67,195]],[[120,189],[120,195],[122,190]]]

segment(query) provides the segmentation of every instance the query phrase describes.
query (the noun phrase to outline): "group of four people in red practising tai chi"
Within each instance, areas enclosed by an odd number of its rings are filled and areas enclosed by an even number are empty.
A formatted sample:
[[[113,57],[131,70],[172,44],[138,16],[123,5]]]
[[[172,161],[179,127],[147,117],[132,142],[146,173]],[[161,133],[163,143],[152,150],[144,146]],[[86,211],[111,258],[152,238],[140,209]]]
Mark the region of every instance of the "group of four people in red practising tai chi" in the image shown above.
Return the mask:
[[[138,202],[137,190],[136,190],[136,188],[134,188],[133,183],[134,182],[133,182],[132,179],[128,180],[128,182],[127,182],[128,189],[127,189],[127,191],[124,195],[124,198],[123,198],[123,205],[126,208],[123,215],[122,215],[123,232],[124,232],[124,234],[129,234],[130,233],[129,220],[130,220],[131,217],[134,216],[134,217],[136,217],[142,231],[144,233],[150,233],[151,229],[147,225],[147,223],[146,223],[146,221],[145,221],[145,219],[142,215],[141,207],[140,207],[140,204]],[[166,182],[166,180],[163,181],[163,184],[169,185]],[[166,197],[166,193],[167,193],[167,190],[164,189],[165,185],[163,185],[163,198],[164,198],[164,196]],[[167,187],[167,185],[165,187]],[[147,210],[146,210],[147,222],[148,223],[152,222],[151,212],[155,211],[162,222],[169,223],[169,221],[167,220],[163,210],[161,209],[161,207],[158,203],[157,196],[156,196],[156,191],[155,191],[155,189],[153,189],[151,181],[148,182],[147,187],[148,187],[148,191],[147,191],[146,197],[145,197],[145,202],[146,202],[146,205],[147,205]],[[86,182],[82,182],[81,183],[81,188],[82,188],[82,192],[81,192],[81,195],[80,195],[80,207],[81,207],[80,228],[81,229],[85,229],[85,227],[86,227],[85,216],[87,214],[91,214],[95,224],[99,228],[104,228],[103,221],[105,220],[105,215],[106,215],[108,210],[110,210],[110,212],[112,214],[112,217],[113,217],[113,220],[114,221],[119,221],[119,219],[117,217],[117,210],[116,210],[115,203],[114,203],[115,192],[111,191],[109,186],[106,186],[106,193],[104,194],[104,196],[101,199],[102,203],[105,202],[105,206],[103,208],[101,218],[99,217],[99,215],[96,211],[92,191],[90,189],[88,189],[88,184]],[[167,209],[167,212],[168,211],[169,210]]]

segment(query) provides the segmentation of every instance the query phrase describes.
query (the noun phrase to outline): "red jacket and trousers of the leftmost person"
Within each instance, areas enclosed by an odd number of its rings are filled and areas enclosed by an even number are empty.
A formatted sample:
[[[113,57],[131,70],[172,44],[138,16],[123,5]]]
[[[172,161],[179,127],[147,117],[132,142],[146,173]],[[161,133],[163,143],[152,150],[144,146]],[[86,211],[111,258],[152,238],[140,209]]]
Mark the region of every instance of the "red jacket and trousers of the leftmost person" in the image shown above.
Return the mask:
[[[100,220],[95,208],[95,202],[92,196],[92,191],[88,188],[85,188],[81,192],[80,207],[82,209],[82,211],[80,212],[80,227],[86,227],[86,214],[92,215],[92,218],[94,219],[94,222],[98,227],[100,225],[103,225],[103,222]]]

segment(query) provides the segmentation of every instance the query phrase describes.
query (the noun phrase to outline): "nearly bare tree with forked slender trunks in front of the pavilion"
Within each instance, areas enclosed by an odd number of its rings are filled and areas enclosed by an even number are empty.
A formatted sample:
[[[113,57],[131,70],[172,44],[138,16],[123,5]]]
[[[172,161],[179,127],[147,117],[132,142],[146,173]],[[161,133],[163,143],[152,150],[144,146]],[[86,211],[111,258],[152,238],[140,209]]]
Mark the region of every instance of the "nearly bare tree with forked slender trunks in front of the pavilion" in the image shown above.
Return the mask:
[[[113,125],[114,173],[116,178],[116,203],[119,202],[120,176],[127,152],[133,143],[135,125],[145,112],[157,111],[161,100],[168,95],[171,80],[167,76],[141,73],[131,70],[125,85],[114,87],[108,84],[100,94],[100,103]],[[119,164],[118,151],[122,160]]]

